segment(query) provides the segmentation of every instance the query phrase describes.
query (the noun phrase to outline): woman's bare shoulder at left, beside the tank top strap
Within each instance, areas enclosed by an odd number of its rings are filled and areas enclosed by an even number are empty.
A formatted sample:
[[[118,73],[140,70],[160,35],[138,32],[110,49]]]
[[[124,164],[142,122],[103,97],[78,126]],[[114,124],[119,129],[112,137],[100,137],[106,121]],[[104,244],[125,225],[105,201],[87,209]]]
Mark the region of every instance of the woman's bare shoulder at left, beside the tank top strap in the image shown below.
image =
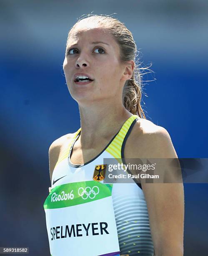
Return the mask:
[[[61,136],[60,138],[53,141],[49,147],[48,155],[49,155],[49,170],[50,170],[50,179],[52,178],[53,170],[55,165],[59,159],[60,153],[65,147],[65,145],[72,140],[75,133],[68,133],[66,135]]]

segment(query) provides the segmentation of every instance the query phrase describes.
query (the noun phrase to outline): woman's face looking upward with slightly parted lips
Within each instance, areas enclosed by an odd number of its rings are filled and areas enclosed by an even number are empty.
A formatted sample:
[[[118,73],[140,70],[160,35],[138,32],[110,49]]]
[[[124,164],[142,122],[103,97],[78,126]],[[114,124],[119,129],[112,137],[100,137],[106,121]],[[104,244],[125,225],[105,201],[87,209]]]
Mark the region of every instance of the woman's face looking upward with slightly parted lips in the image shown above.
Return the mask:
[[[119,45],[105,29],[74,28],[70,32],[63,69],[70,94],[78,103],[121,98],[125,66],[120,63]],[[75,82],[79,75],[93,81]]]

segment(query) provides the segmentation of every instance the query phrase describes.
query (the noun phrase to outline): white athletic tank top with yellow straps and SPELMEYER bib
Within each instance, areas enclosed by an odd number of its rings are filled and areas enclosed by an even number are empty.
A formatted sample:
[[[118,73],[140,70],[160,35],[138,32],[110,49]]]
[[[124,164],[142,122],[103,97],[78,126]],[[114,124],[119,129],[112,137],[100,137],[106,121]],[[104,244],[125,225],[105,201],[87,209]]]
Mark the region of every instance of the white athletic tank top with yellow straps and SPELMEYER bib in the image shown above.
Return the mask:
[[[125,142],[138,119],[128,118],[98,156],[77,165],[70,155],[80,128],[58,159],[44,202],[51,256],[154,255],[141,185],[102,179],[103,159],[124,159]],[[99,169],[100,181],[95,177]]]

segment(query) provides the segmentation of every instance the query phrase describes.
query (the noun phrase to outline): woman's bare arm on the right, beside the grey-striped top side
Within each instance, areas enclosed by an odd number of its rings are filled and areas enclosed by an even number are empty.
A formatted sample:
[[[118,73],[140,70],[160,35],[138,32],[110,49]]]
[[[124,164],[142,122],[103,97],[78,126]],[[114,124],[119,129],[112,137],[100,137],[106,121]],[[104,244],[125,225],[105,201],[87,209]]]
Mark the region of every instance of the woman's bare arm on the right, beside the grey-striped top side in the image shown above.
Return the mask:
[[[145,142],[148,158],[178,158],[168,132],[162,127],[158,127],[158,131],[152,134],[147,134]],[[165,167],[162,171],[165,174],[169,172]],[[174,174],[170,175],[173,177]],[[155,255],[183,256],[184,191],[182,179],[181,183],[141,182],[141,184],[148,207]]]

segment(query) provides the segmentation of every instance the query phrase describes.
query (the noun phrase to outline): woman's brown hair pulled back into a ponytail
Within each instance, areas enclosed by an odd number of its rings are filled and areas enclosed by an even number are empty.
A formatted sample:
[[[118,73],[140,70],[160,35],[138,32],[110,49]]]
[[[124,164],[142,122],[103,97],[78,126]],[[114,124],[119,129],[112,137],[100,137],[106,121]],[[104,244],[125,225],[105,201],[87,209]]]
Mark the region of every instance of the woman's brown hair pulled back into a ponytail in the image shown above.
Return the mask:
[[[70,29],[70,31],[75,28],[75,26],[81,21],[85,20],[85,22],[95,22],[102,27],[105,27],[111,35],[114,36],[115,41],[120,46],[120,61],[125,62],[129,60],[133,60],[136,63],[137,58],[137,46],[135,41],[133,40],[132,33],[126,28],[124,23],[120,22],[117,18],[110,17],[108,15],[92,15],[88,14],[83,18],[80,18],[74,26]],[[70,31],[68,33],[67,44],[70,36]],[[135,64],[134,71],[131,79],[128,79],[123,87],[123,105],[124,107],[133,115],[138,115],[140,118],[145,118],[145,114],[140,105],[142,98],[142,72],[143,70],[150,70],[149,67],[139,67],[140,64]],[[150,73],[146,72],[145,74]]]

